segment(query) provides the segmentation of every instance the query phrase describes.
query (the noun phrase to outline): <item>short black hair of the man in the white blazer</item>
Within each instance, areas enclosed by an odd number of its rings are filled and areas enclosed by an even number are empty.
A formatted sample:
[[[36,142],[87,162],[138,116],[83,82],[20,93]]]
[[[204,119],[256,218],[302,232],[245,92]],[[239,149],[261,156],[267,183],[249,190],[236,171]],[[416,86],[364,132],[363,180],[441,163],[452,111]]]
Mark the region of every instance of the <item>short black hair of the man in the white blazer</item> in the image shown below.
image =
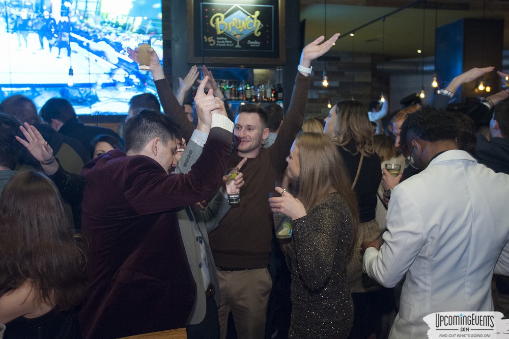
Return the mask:
[[[456,126],[453,113],[428,106],[407,115],[401,126],[400,148],[402,150],[407,150],[409,142],[407,139],[412,135],[429,142],[455,140]]]

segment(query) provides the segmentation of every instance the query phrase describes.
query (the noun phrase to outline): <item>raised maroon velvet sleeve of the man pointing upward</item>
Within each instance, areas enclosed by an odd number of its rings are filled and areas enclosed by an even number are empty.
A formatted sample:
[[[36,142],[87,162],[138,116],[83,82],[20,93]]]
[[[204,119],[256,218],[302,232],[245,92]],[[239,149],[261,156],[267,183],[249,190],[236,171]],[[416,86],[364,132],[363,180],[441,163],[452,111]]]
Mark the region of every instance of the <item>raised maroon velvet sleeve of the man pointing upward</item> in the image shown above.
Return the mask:
[[[187,174],[166,174],[147,157],[132,156],[122,174],[123,194],[141,215],[167,212],[212,198],[235,151],[231,132],[210,130],[201,157]]]

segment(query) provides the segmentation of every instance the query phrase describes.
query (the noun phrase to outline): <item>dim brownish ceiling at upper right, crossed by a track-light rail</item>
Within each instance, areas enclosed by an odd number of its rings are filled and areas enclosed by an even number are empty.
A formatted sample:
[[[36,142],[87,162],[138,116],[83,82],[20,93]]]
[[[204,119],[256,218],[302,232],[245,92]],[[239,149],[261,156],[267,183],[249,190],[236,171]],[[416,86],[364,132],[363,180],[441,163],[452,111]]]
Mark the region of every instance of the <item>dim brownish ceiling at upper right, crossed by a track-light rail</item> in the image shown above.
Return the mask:
[[[354,37],[346,34],[412,3],[401,0],[300,0],[300,19],[305,20],[304,44],[324,32],[327,36],[339,32],[342,37],[332,50],[378,53],[388,60],[432,57],[435,55],[436,27],[462,18],[503,18],[504,50],[509,49],[509,0],[420,2],[416,7],[386,17],[385,21],[379,20],[356,30]],[[418,49],[423,55],[417,53]]]

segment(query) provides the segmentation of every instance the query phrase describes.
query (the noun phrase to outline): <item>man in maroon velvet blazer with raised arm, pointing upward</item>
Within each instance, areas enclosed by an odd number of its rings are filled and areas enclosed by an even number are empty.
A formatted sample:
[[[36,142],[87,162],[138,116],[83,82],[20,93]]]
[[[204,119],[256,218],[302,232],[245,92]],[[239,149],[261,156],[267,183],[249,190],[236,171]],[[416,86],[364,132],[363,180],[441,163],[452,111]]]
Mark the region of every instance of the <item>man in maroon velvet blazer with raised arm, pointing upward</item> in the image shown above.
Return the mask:
[[[83,168],[82,231],[89,244],[87,299],[79,312],[84,338],[185,326],[196,289],[175,211],[217,192],[235,150],[233,122],[210,113],[224,106],[204,97],[196,103],[203,118],[198,129],[210,128],[209,137],[188,174],[168,174],[177,163],[180,133],[153,111],[128,120],[126,154],[116,149]]]

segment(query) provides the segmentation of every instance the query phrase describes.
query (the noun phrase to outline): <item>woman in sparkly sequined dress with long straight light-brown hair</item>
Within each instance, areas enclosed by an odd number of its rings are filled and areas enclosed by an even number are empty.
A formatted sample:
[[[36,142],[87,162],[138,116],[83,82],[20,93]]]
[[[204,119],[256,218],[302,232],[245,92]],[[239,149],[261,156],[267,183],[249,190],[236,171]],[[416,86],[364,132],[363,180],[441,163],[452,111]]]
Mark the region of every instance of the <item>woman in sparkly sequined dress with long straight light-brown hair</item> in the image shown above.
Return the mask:
[[[292,316],[289,338],[346,338],[353,321],[347,254],[358,224],[357,202],[341,155],[322,133],[297,136],[287,158],[299,181],[293,197],[276,187],[273,212],[292,219]]]

